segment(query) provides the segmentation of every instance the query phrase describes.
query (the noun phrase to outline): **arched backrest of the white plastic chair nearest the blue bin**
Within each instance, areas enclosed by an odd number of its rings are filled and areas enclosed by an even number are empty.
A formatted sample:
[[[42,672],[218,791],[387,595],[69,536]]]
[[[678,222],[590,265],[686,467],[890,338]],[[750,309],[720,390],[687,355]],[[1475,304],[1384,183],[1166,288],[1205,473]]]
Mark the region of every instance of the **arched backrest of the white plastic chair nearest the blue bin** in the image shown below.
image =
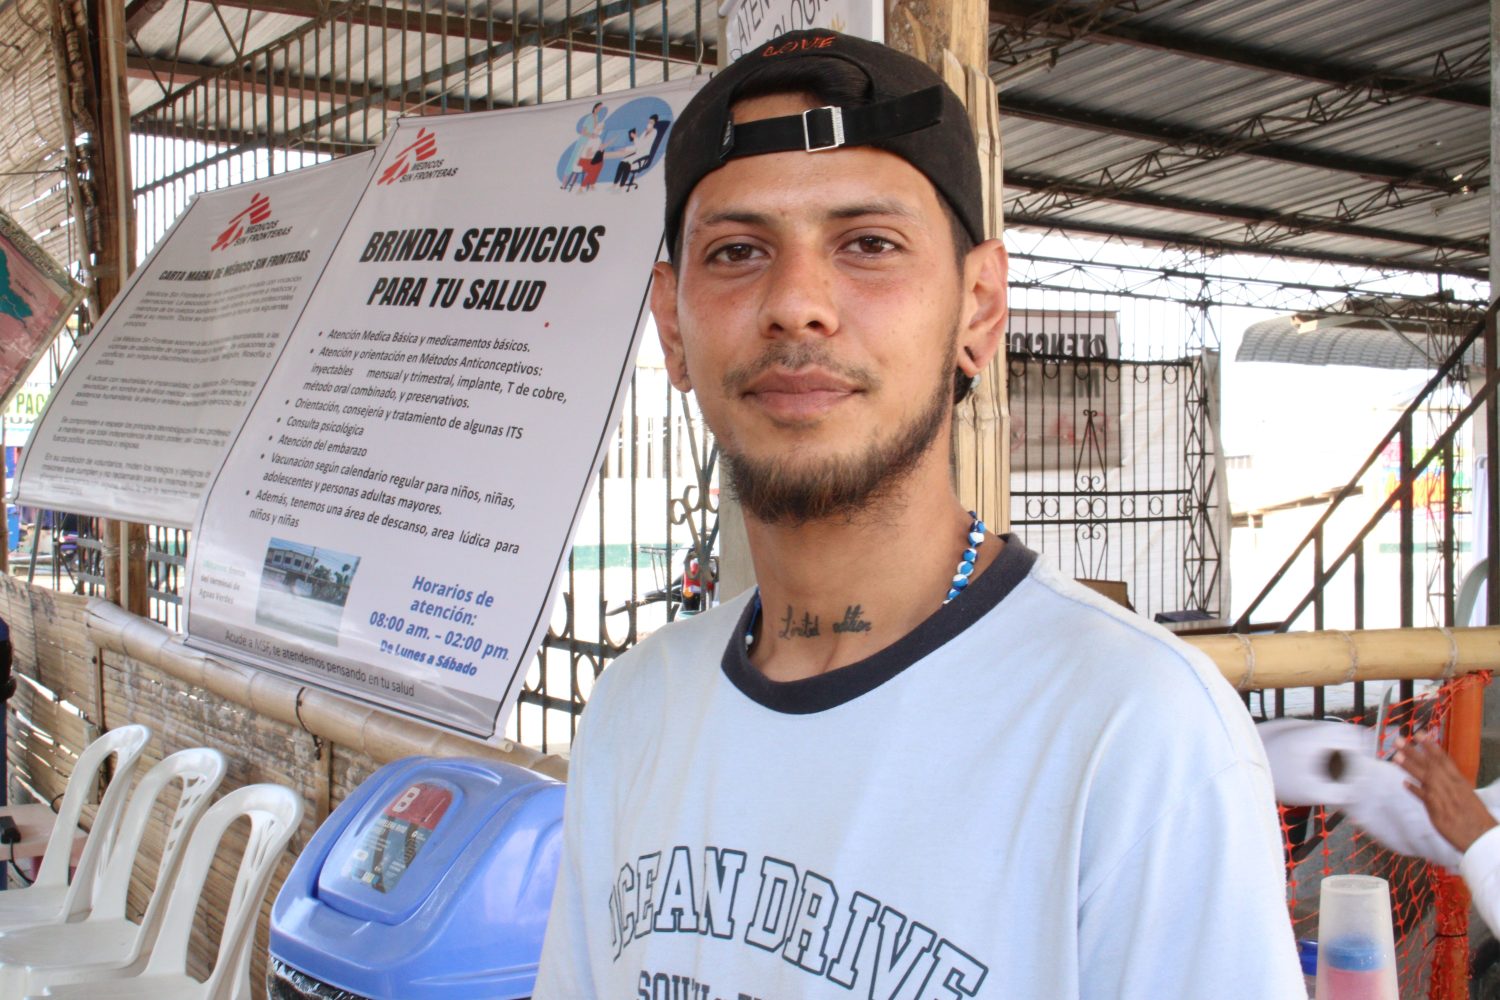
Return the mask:
[[[192,937],[192,921],[198,910],[204,883],[219,841],[225,831],[242,816],[250,820],[250,834],[240,856],[240,868],[230,894],[230,906],[224,913],[224,933],[219,936],[219,954],[213,961],[204,996],[230,997],[234,987],[244,979],[250,960],[248,939],[255,934],[255,921],[266,898],[276,862],[280,861],[286,841],[302,823],[302,798],[279,784],[248,784],[230,792],[214,802],[194,831],[183,856],[182,871],[172,885],[166,915],[146,964],[144,976],[183,976],[188,972],[188,945]]]

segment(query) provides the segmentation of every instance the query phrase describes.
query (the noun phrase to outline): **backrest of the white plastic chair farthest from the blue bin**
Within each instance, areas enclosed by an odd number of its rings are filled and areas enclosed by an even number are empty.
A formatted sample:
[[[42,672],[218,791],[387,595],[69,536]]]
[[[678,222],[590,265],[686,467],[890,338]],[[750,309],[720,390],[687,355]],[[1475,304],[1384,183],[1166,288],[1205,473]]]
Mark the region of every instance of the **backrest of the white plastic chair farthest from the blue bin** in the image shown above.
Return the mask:
[[[99,783],[99,771],[110,754],[114,754],[114,775],[99,801],[93,829],[88,831],[88,841],[78,858],[78,871],[74,874],[72,889],[68,894],[64,912],[69,916],[87,910],[93,903],[94,876],[114,844],[116,825],[120,822],[124,799],[130,792],[135,765],[150,739],[152,730],[146,726],[132,724],[111,729],[78,754],[74,772],[68,775],[68,789],[63,792],[63,802],[57,808],[57,817],[52,823],[52,835],[46,840],[42,867],[33,883],[38,886],[60,888],[69,885],[68,871],[74,861],[74,831],[78,828],[78,817],[84,802],[93,798],[94,786]]]

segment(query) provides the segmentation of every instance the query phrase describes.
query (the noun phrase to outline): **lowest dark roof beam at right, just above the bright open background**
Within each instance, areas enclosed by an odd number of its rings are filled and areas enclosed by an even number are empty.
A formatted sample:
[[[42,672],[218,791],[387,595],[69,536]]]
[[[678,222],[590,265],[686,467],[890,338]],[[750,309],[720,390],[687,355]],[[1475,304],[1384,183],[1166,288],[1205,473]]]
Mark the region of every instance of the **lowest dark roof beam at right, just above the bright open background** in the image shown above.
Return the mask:
[[[1226,222],[1240,222],[1246,226],[1258,226],[1275,231],[1270,238],[1287,238],[1300,232],[1328,232],[1335,235],[1356,237],[1360,240],[1380,240],[1406,246],[1420,246],[1442,250],[1461,250],[1466,253],[1488,253],[1488,247],[1480,240],[1449,240],[1444,237],[1426,235],[1422,232],[1402,232],[1398,229],[1383,229],[1378,226],[1356,225],[1336,217],[1308,216],[1302,213],[1278,213],[1254,205],[1239,205],[1232,202],[1206,201],[1198,198],[1176,198],[1150,190],[1119,189],[1107,184],[1090,184],[1068,180],[1065,177],[1050,177],[1046,174],[1029,174],[1024,171],[1005,171],[1005,186],[1041,192],[1042,204],[1028,207],[1026,214],[1041,214],[1050,217],[1056,211],[1068,211],[1089,201],[1108,201],[1137,208],[1158,208],[1164,211],[1182,211],[1197,216],[1209,216]]]

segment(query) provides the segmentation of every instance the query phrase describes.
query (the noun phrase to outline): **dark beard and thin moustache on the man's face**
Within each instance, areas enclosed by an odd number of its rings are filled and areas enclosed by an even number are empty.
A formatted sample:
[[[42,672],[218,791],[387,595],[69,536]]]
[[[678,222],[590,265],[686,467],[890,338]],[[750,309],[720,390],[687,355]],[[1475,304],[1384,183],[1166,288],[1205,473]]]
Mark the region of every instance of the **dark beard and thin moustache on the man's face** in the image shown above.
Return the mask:
[[[748,382],[759,372],[783,366],[790,370],[819,361],[866,388],[878,379],[860,369],[846,369],[820,358],[806,345],[768,355],[750,369],[724,376],[726,388]],[[934,388],[922,408],[884,439],[858,454],[837,456],[814,465],[796,465],[784,456],[753,459],[724,448],[724,478],[746,513],[766,525],[806,525],[830,517],[854,517],[885,499],[891,489],[927,454],[952,408],[952,370],[957,361],[957,331],[944,352]]]

